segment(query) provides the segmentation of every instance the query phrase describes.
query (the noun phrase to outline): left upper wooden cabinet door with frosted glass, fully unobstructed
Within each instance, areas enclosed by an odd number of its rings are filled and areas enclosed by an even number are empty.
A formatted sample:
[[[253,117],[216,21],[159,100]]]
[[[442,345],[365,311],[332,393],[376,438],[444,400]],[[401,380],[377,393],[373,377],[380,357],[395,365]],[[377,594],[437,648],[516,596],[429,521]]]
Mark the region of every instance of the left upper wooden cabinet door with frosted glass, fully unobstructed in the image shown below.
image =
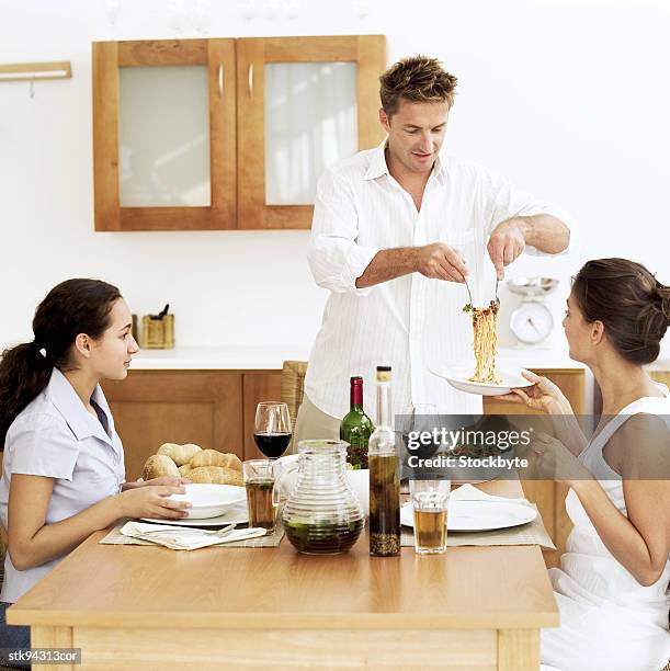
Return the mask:
[[[235,39],[93,43],[95,230],[237,228]]]

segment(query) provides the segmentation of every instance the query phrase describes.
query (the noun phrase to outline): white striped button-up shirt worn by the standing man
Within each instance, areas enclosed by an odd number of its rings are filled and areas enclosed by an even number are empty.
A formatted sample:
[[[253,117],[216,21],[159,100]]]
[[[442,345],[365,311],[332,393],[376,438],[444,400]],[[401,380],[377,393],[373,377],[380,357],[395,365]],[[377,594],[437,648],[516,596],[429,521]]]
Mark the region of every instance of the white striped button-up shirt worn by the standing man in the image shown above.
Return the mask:
[[[305,393],[317,408],[341,418],[349,411],[349,378],[362,375],[365,409],[374,420],[375,368],[390,365],[394,414],[417,403],[433,403],[440,412],[480,412],[480,397],[457,391],[430,372],[470,360],[474,368],[465,285],[419,273],[362,289],[355,281],[379,250],[445,242],[466,261],[475,304],[486,305],[495,295],[486,244],[496,226],[512,216],[546,213],[572,229],[569,217],[495,172],[453,158],[438,159],[417,212],[388,172],[384,147],[336,164],[318,182],[308,261],[317,284],[331,294]]]

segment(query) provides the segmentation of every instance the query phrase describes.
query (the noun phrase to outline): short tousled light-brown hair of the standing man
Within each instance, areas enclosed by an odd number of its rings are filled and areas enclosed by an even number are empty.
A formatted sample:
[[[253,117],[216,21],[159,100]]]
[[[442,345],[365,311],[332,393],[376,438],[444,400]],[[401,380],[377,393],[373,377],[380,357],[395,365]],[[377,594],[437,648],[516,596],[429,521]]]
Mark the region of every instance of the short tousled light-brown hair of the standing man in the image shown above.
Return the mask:
[[[436,58],[408,56],[393,65],[382,77],[379,98],[387,116],[398,111],[400,102],[446,102],[454,104],[458,79],[450,75]]]

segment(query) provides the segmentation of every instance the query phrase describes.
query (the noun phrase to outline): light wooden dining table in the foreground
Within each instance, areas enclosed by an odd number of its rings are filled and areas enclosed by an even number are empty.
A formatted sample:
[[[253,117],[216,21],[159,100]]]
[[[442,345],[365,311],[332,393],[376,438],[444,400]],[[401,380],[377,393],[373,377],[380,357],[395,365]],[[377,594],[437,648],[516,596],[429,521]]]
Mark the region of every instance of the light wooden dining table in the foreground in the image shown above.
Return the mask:
[[[481,486],[521,497],[518,481]],[[59,669],[536,671],[559,624],[537,546],[371,557],[275,548],[100,545],[92,534],[7,612],[32,646],[81,648]]]

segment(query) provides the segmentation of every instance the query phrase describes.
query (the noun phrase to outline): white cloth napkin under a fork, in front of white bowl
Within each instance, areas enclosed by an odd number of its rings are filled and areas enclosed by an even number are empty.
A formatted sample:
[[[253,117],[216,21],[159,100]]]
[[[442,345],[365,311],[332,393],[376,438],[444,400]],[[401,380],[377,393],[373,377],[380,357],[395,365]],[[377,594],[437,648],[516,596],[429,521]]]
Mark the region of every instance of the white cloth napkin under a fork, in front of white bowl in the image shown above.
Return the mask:
[[[205,528],[194,528],[190,526],[170,526],[167,524],[143,524],[141,522],[126,522],[121,527],[121,533],[124,536],[133,538],[141,538],[157,545],[163,545],[171,549],[198,549],[211,545],[220,545],[223,543],[231,543],[234,541],[245,541],[247,538],[255,538],[264,536],[266,530],[259,527],[239,528],[235,525],[226,526],[225,528],[212,531]]]

